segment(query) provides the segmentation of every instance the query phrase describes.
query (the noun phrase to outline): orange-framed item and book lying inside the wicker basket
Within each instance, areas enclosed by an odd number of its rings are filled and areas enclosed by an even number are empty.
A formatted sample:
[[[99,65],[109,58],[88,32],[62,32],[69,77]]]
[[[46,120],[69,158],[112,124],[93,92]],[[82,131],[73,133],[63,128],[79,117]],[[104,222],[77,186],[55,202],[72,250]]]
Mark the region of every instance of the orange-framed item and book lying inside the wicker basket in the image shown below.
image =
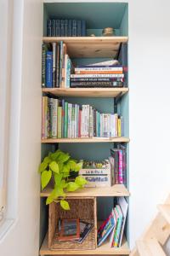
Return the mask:
[[[93,224],[79,218],[62,220],[59,218],[58,226],[57,241],[75,241],[77,243],[82,243],[93,228]]]

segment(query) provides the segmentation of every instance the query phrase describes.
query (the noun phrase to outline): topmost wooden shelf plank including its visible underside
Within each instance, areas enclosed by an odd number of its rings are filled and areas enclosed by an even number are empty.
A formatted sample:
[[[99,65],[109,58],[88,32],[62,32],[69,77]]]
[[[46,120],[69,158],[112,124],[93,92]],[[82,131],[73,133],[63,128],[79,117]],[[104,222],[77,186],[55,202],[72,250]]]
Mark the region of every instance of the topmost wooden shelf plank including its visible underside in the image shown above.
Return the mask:
[[[44,43],[63,41],[68,55],[74,58],[115,57],[120,44],[127,43],[127,37],[43,37]]]

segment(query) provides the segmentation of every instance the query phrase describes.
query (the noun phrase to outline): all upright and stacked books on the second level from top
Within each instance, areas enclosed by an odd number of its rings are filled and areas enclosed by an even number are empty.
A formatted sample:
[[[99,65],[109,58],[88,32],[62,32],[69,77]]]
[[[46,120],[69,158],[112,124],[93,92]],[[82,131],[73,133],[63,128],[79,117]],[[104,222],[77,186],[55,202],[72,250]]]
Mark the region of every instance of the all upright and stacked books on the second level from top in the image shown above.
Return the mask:
[[[118,61],[103,61],[73,67],[66,44],[42,44],[42,87],[122,87],[123,67]]]

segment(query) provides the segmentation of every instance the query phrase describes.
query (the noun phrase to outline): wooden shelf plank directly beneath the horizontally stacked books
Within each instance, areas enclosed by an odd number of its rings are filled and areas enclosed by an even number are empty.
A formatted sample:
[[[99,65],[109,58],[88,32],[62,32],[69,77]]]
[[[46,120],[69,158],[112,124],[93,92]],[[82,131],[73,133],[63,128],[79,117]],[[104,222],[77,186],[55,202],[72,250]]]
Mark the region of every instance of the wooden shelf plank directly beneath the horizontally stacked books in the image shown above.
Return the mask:
[[[116,97],[128,92],[128,88],[42,88],[42,92],[50,93],[54,96],[71,97]]]

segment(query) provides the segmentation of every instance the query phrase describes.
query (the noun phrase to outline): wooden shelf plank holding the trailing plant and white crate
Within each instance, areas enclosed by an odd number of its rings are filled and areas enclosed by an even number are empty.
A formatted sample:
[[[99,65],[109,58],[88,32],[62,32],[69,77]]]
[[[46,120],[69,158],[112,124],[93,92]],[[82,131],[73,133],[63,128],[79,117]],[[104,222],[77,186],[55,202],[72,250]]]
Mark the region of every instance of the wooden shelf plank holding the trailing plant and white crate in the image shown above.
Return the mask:
[[[41,197],[47,197],[52,189],[47,187],[41,192]],[[76,192],[67,193],[67,197],[88,197],[88,196],[129,196],[130,193],[127,188],[122,184],[116,184],[112,187],[105,188],[84,188]]]

